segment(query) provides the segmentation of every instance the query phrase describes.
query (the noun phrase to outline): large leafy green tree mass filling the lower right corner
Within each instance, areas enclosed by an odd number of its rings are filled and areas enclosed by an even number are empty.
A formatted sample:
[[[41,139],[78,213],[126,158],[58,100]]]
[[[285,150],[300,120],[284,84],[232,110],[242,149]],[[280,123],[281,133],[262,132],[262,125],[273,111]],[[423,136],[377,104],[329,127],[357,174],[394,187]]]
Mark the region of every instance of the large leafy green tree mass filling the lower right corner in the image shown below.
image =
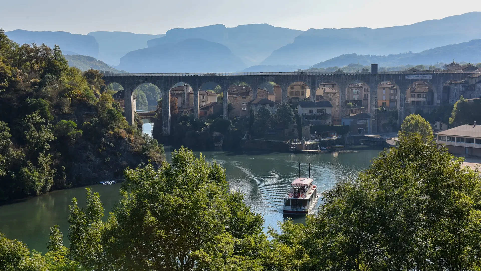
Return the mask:
[[[304,270],[477,270],[481,177],[461,162],[419,133],[401,134],[278,239],[308,255]]]

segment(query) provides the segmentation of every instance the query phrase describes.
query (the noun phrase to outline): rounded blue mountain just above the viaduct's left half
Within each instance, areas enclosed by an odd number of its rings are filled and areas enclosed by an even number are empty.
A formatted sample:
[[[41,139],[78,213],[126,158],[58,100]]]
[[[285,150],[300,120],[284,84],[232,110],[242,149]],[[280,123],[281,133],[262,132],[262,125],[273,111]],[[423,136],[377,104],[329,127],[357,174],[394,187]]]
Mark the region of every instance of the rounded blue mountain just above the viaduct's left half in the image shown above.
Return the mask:
[[[116,68],[133,73],[228,72],[245,64],[220,43],[189,39],[129,52]]]

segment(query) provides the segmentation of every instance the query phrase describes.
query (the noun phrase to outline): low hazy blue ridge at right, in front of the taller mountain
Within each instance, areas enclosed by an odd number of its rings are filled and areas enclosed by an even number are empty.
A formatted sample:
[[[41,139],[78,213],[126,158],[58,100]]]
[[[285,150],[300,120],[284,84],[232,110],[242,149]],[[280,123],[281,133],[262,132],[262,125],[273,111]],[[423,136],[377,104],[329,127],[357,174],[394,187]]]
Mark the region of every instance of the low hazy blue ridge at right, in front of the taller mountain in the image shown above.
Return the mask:
[[[319,62],[313,65],[312,68],[343,67],[351,63],[361,65],[378,64],[383,67],[394,67],[408,64],[434,64],[438,62],[451,63],[453,58],[456,59],[456,62],[481,62],[481,40],[445,45],[424,50],[420,53],[409,52],[389,55],[342,54],[329,60]]]

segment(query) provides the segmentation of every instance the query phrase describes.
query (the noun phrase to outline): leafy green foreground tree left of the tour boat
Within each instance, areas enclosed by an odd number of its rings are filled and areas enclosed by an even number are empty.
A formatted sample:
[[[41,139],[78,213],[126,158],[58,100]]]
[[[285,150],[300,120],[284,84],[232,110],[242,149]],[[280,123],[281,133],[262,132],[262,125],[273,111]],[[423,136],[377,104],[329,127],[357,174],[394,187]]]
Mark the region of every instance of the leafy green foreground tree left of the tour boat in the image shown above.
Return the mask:
[[[264,219],[229,192],[224,169],[181,148],[172,164],[127,169],[107,222],[97,193],[69,207],[71,256],[95,270],[234,270],[260,266]],[[262,250],[261,250],[262,249]]]

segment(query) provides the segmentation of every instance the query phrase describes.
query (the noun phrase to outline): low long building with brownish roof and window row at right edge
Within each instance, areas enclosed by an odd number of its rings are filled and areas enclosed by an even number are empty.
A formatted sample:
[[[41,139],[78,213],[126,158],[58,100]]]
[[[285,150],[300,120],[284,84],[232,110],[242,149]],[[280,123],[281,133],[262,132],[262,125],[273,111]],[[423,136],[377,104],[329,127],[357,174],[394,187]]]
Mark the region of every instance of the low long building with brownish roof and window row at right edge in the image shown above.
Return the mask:
[[[481,156],[481,125],[476,122],[438,132],[435,139],[452,154]]]

